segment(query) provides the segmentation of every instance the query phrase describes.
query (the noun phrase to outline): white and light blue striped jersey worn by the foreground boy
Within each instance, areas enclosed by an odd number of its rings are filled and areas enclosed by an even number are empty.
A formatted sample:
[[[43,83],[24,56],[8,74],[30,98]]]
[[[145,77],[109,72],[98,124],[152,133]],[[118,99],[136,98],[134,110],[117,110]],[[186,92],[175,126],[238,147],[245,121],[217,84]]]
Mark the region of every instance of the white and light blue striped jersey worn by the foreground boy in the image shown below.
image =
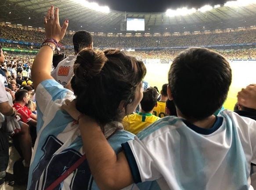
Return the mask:
[[[256,121],[229,110],[209,129],[167,116],[124,144],[135,183],[161,189],[248,190],[256,162]]]

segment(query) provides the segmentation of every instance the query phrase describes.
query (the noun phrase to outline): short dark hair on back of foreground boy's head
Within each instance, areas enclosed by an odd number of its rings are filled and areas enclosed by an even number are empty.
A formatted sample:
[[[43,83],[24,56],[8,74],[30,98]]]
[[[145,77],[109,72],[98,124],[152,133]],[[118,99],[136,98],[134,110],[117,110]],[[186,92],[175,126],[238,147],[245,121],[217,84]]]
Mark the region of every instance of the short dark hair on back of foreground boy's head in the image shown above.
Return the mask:
[[[173,60],[168,78],[180,112],[202,120],[223,105],[232,74],[224,56],[206,48],[190,48]]]

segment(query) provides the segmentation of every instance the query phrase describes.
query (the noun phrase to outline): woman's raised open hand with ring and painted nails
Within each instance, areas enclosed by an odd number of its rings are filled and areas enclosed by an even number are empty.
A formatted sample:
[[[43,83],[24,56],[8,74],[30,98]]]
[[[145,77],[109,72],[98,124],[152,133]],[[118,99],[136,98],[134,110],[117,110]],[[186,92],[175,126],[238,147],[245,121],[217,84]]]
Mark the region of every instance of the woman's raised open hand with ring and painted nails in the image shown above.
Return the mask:
[[[48,9],[47,15],[44,18],[45,34],[47,39],[56,39],[59,42],[64,38],[66,30],[69,26],[69,21],[65,20],[63,26],[59,22],[59,9],[54,10],[54,6]]]

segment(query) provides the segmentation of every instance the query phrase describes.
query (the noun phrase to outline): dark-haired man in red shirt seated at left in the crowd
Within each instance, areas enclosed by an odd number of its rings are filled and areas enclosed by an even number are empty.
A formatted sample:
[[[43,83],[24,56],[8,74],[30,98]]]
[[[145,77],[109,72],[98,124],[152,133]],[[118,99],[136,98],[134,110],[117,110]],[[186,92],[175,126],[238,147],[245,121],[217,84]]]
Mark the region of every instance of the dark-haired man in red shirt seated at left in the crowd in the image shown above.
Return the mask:
[[[27,90],[18,90],[15,93],[14,108],[21,114],[21,120],[29,126],[36,127],[37,116],[32,113],[25,105],[29,102],[29,92]]]

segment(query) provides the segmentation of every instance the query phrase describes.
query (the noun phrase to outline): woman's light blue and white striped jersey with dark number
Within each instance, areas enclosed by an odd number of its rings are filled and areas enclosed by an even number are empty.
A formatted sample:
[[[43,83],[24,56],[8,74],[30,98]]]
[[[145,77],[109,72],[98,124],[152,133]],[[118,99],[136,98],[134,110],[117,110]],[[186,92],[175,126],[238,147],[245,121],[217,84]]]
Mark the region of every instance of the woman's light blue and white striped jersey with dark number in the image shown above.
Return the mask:
[[[62,173],[69,169],[83,156],[83,142],[77,124],[61,111],[65,99],[74,99],[72,91],[61,86],[57,81],[46,80],[36,89],[38,111],[37,139],[29,169],[28,190],[44,190]],[[119,123],[122,126],[121,123]],[[125,130],[118,130],[108,138],[116,153],[121,151],[121,144],[130,141],[134,135]],[[131,190],[146,190],[155,182],[127,187]],[[58,190],[98,190],[91,176],[89,165],[84,161],[55,189]],[[150,188],[149,188],[150,189]]]

